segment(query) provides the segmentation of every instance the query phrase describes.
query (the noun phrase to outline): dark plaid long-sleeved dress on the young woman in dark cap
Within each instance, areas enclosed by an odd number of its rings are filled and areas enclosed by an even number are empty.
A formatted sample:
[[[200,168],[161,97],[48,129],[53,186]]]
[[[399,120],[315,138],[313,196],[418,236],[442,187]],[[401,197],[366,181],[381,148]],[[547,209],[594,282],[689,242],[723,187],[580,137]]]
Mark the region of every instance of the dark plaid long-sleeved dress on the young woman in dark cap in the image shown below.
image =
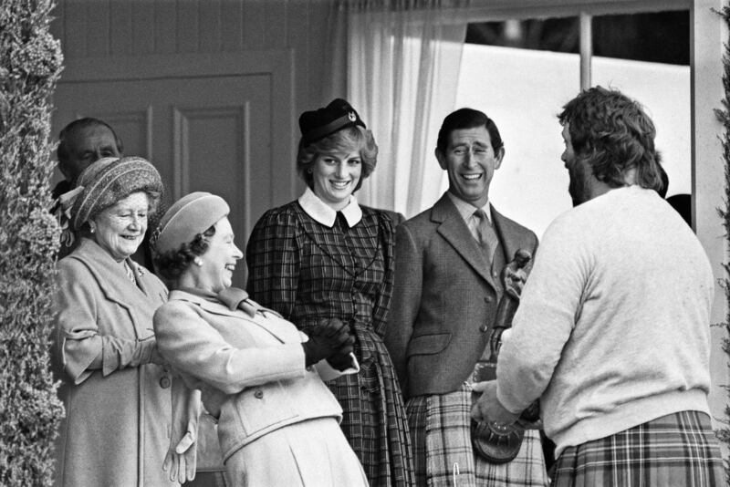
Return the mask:
[[[318,223],[291,202],[256,223],[246,248],[248,292],[305,333],[321,318],[349,323],[360,374],[328,383],[344,410],[341,427],[372,486],[412,485],[408,423],[383,345],[393,285],[391,218],[361,207],[351,228]],[[341,215],[340,215],[341,216]]]

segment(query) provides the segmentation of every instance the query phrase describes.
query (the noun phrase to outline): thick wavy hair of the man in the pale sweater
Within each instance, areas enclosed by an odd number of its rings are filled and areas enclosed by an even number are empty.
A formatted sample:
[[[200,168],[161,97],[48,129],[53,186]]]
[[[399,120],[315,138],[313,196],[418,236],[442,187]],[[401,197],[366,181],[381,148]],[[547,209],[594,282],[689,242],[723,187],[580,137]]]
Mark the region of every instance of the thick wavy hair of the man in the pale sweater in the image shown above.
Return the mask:
[[[625,171],[636,168],[637,184],[662,190],[656,129],[639,102],[598,86],[568,101],[558,120],[568,123],[576,159],[587,161],[599,181],[612,188],[625,186]]]

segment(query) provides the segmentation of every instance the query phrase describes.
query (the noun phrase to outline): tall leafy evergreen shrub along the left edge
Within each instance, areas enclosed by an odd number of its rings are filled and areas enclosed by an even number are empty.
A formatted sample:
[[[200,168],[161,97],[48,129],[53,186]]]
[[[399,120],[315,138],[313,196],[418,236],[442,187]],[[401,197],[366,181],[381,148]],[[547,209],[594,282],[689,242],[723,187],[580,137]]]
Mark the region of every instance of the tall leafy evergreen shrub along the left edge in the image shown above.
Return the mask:
[[[50,485],[63,407],[48,368],[58,225],[50,97],[63,57],[49,0],[0,1],[0,485]]]

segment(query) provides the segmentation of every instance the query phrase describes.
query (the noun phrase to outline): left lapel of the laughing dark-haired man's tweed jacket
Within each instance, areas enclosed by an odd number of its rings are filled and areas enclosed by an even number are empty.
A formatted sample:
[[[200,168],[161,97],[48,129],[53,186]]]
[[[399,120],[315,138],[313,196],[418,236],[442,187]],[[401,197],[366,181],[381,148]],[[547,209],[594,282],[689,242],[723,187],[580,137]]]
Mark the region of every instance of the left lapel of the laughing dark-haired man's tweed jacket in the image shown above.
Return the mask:
[[[485,253],[479,248],[479,244],[474,240],[472,233],[469,232],[469,228],[466,226],[461,214],[445,193],[433,205],[431,219],[434,223],[441,223],[436,231],[454,247],[456,253],[464,258],[477,275],[481,275],[496,290],[497,286],[490,273],[492,263],[488,262]]]

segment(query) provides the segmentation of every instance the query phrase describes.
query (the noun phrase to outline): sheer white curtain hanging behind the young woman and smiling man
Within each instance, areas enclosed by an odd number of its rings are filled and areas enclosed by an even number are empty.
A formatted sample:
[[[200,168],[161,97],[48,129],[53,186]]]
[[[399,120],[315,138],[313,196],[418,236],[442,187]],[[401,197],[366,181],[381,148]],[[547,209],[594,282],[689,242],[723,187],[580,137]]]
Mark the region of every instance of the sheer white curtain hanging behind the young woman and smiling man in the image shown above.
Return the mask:
[[[358,201],[411,217],[436,201],[438,130],[455,109],[465,2],[343,1],[330,17],[326,98],[347,98],[375,135],[378,166]]]

